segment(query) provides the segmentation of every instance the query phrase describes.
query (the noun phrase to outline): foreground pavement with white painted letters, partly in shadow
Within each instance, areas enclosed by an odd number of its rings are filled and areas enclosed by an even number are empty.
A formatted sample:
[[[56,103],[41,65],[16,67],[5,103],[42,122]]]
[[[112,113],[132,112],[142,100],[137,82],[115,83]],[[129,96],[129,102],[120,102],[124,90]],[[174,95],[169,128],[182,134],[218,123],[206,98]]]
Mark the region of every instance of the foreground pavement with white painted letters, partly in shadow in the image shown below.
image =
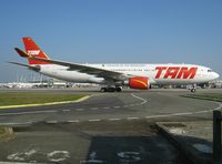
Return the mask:
[[[0,140],[0,161],[61,164],[186,164],[183,155],[145,120],[39,123],[14,127]]]

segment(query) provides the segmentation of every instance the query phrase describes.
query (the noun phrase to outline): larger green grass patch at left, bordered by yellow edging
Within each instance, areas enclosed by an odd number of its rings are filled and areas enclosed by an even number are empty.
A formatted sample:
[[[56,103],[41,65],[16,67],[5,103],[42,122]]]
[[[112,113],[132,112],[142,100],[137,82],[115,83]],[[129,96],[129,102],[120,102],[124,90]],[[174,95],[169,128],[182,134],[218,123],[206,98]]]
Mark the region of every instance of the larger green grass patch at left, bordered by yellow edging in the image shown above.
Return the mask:
[[[85,95],[49,93],[0,93],[0,106],[74,101]]]

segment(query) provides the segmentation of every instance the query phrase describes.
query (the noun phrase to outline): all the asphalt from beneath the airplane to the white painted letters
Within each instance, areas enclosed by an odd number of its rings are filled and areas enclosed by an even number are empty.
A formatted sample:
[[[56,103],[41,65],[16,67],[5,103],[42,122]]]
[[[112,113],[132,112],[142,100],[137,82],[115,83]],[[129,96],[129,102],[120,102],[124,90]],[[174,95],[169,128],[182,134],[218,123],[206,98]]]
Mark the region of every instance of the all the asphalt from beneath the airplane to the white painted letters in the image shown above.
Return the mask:
[[[6,91],[16,92],[0,92]],[[0,110],[0,124],[14,126],[12,136],[0,140],[1,161],[183,164],[188,161],[152,129],[153,123],[211,120],[212,111],[222,109],[221,103],[180,96],[190,94],[188,90],[18,91],[85,93],[91,98],[80,103]]]

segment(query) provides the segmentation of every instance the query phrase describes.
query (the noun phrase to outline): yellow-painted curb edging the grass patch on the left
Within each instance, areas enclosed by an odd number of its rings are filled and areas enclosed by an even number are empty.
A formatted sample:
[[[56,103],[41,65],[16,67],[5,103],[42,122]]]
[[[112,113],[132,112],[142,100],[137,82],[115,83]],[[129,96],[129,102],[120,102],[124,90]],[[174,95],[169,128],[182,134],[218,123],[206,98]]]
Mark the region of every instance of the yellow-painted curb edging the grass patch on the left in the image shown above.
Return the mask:
[[[0,106],[0,110],[2,109],[17,109],[17,107],[32,107],[32,106],[47,106],[47,105],[58,105],[58,104],[68,104],[68,103],[78,103],[85,101],[90,98],[90,95],[85,95],[81,99],[78,99],[75,101],[61,101],[61,102],[51,102],[51,103],[38,103],[38,104],[23,104],[23,105],[8,105],[8,106]]]

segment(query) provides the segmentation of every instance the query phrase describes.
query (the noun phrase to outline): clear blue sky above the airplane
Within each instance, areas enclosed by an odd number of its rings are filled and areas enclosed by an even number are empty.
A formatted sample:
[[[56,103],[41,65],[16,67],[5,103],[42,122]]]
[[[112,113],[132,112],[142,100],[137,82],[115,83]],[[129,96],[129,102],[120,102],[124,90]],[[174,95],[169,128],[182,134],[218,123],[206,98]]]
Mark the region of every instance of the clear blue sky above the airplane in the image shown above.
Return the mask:
[[[1,0],[0,82],[26,74],[7,61],[32,37],[72,62],[195,63],[222,75],[220,0]]]

